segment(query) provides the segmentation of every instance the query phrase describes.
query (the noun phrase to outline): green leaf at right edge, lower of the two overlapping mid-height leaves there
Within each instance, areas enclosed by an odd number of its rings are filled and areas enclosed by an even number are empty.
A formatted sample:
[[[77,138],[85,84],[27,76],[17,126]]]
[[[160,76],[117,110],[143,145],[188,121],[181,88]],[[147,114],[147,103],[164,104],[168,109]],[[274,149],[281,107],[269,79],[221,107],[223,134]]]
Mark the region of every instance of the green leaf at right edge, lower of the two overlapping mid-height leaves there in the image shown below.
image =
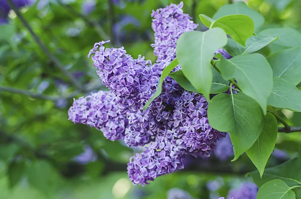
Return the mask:
[[[267,104],[301,112],[301,91],[292,83],[279,77],[274,77],[273,82],[273,89]]]

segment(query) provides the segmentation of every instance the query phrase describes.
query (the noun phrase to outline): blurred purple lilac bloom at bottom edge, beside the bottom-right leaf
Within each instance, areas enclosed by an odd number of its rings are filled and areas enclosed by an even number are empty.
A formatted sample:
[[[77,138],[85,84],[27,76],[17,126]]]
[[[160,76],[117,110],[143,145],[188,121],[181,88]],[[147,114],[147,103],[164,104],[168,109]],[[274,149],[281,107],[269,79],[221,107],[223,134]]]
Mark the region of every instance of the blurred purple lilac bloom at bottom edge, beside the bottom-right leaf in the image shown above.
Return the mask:
[[[258,187],[253,182],[243,182],[240,187],[230,189],[228,198],[256,199]]]

